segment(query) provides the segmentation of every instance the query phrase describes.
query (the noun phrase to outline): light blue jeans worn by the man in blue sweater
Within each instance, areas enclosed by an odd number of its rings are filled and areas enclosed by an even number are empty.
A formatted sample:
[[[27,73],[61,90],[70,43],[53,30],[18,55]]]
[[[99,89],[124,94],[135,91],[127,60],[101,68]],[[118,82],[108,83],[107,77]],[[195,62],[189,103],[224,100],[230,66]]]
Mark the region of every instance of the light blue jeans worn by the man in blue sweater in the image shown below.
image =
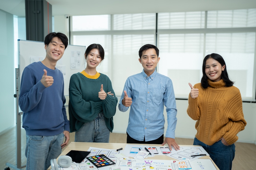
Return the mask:
[[[63,133],[54,136],[26,135],[26,138],[26,170],[45,170],[51,165],[51,159],[56,159],[61,154]]]

